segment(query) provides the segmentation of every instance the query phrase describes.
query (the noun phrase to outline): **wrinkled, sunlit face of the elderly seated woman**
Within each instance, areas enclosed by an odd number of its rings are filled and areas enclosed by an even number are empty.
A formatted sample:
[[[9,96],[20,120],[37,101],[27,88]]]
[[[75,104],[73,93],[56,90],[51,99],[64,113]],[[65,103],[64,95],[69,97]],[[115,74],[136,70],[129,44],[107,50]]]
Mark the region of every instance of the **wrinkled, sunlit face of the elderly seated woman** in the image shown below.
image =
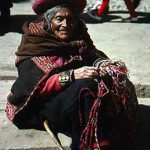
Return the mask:
[[[62,7],[51,19],[52,32],[60,39],[68,41],[74,33],[75,18],[69,8]]]

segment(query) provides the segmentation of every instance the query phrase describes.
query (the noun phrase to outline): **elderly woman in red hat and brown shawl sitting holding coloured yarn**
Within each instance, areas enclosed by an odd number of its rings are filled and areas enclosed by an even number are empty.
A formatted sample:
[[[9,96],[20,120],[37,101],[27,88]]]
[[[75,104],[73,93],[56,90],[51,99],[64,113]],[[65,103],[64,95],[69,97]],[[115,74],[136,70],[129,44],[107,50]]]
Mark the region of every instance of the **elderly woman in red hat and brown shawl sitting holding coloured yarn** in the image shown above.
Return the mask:
[[[127,69],[94,47],[80,19],[85,1],[48,2],[35,3],[42,18],[23,26],[7,116],[20,129],[45,130],[48,122],[56,138],[58,132],[72,138],[72,150],[113,148],[129,138],[127,129],[137,131],[126,108],[131,100],[137,108]],[[119,144],[127,148],[124,139]]]

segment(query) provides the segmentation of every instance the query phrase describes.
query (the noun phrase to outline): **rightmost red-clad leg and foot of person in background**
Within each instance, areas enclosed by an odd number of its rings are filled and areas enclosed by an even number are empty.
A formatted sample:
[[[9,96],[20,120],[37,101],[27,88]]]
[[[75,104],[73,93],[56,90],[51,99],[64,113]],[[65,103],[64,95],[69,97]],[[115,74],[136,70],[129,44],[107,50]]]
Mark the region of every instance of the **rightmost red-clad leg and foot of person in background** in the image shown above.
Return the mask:
[[[136,22],[136,21],[138,21],[138,17],[137,17],[137,14],[135,12],[135,8],[134,8],[132,1],[131,0],[124,0],[124,2],[127,6],[127,9],[129,10],[130,17],[123,18],[122,21],[125,21],[125,22]]]

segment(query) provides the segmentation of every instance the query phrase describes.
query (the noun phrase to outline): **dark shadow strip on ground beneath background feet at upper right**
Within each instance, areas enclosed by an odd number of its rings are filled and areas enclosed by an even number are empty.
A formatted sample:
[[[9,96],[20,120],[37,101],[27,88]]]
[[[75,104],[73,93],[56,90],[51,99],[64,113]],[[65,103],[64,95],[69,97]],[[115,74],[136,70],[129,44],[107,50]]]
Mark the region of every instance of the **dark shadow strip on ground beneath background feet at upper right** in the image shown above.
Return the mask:
[[[87,24],[96,24],[96,23],[104,23],[104,22],[111,22],[111,23],[120,23],[121,21],[121,14],[129,14],[128,11],[110,11],[108,15],[104,16],[102,21],[96,21],[95,19],[91,18],[87,12],[83,14],[83,19]],[[137,12],[139,17],[138,24],[141,23],[150,23],[150,13],[145,12]]]

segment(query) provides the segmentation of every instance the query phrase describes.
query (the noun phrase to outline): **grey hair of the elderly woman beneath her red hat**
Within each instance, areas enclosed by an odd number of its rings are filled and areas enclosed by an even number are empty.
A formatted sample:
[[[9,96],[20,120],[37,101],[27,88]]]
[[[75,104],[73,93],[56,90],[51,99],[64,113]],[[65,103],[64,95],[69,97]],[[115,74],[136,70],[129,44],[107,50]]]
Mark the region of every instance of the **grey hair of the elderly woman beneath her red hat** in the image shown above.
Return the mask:
[[[48,9],[45,13],[44,13],[44,19],[45,19],[45,30],[47,32],[51,32],[51,26],[50,26],[50,22],[53,18],[53,16],[62,8],[62,7],[66,7],[66,8],[69,8],[72,10],[73,14],[74,14],[74,18],[75,20],[78,20],[79,19],[79,13],[76,12],[76,10],[70,6],[70,5],[67,5],[67,4],[61,4],[61,5],[57,5],[57,6],[54,6],[53,8],[51,9]]]

